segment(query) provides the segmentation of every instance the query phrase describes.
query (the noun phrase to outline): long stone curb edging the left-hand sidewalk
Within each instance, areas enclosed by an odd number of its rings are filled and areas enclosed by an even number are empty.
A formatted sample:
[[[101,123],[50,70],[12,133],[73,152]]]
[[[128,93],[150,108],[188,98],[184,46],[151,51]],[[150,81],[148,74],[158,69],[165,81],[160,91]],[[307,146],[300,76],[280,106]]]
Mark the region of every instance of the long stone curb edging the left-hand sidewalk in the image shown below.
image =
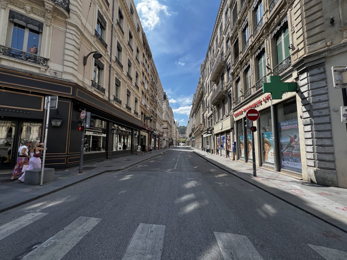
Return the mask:
[[[70,186],[73,186],[73,185],[75,185],[75,184],[77,184],[77,183],[79,183],[79,182],[83,182],[83,181],[89,180],[89,179],[91,179],[91,178],[93,178],[93,177],[96,177],[96,176],[98,176],[98,175],[101,175],[101,174],[103,174],[103,173],[123,171],[123,170],[125,170],[125,169],[127,169],[127,168],[133,167],[133,166],[136,165],[136,164],[143,163],[143,162],[145,162],[145,161],[147,161],[147,160],[149,160],[149,159],[152,159],[152,158],[154,158],[154,157],[156,157],[156,156],[159,156],[159,155],[168,153],[169,151],[170,151],[170,150],[163,151],[163,152],[160,153],[160,154],[156,154],[156,155],[154,155],[154,156],[151,156],[151,157],[149,157],[149,158],[143,159],[143,160],[141,160],[141,161],[139,161],[139,162],[130,164],[130,165],[128,165],[128,166],[124,166],[124,167],[119,168],[119,169],[115,169],[115,170],[110,169],[110,170],[105,170],[105,171],[102,171],[102,172],[95,173],[95,174],[93,174],[93,175],[91,175],[91,176],[85,177],[84,179],[81,179],[81,180],[78,180],[78,181],[75,181],[75,182],[71,182],[71,183],[69,183],[69,184],[67,184],[67,185],[65,185],[65,186],[59,187],[59,188],[57,188],[57,189],[55,189],[55,190],[48,191],[48,192],[46,192],[46,193],[40,194],[40,195],[38,195],[38,196],[36,196],[36,197],[34,197],[34,198],[27,199],[27,200],[22,201],[22,202],[19,202],[19,203],[17,203],[17,204],[11,205],[11,206],[9,206],[9,207],[7,207],[7,208],[0,209],[0,213],[5,212],[5,211],[10,210],[10,209],[13,209],[13,208],[16,208],[16,207],[18,207],[18,206],[24,205],[24,204],[26,204],[26,203],[28,203],[28,202],[31,202],[31,201],[40,199],[40,198],[42,198],[42,197],[45,197],[45,196],[47,196],[47,195],[49,195],[49,194],[52,194],[52,193],[55,193],[55,192],[57,192],[57,191],[63,190],[63,189],[65,189],[65,188],[68,188],[68,187],[70,187]]]

